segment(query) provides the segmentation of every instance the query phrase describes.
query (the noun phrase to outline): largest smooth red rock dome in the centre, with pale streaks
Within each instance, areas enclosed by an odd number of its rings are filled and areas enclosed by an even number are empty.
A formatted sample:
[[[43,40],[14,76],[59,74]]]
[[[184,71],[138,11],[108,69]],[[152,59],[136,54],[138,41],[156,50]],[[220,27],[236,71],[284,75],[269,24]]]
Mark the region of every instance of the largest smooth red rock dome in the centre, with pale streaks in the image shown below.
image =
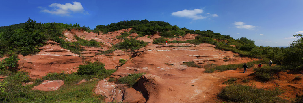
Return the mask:
[[[144,79],[147,80],[146,83],[138,84],[148,93],[147,102],[210,102],[205,99],[216,95],[215,92],[221,88],[218,83],[221,77],[203,73],[203,68],[188,67],[182,62],[228,65],[253,61],[246,57],[233,57],[239,54],[231,51],[215,50],[214,45],[207,43],[169,45],[174,47],[151,44],[137,50],[130,60],[112,74],[112,77],[123,77],[134,72],[147,73]]]

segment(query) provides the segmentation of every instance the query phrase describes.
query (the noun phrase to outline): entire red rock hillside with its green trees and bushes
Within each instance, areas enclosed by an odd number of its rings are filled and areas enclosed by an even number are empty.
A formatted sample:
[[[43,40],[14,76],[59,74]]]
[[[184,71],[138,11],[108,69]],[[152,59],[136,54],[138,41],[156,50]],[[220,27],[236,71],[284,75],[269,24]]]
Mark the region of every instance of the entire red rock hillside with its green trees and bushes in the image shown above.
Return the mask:
[[[297,44],[272,48],[256,47],[255,41],[244,37],[235,40],[210,30],[179,29],[161,21],[122,21],[90,30],[78,24],[29,20],[23,29],[2,32],[0,90],[4,91],[0,92],[0,100],[299,101],[301,97],[296,95],[303,95],[303,86],[298,65],[301,58],[297,55],[301,55],[302,35],[296,36],[301,36]],[[275,65],[267,65],[268,60],[275,61]],[[249,66],[247,73],[242,73],[243,63]],[[256,68],[258,63],[263,67]],[[246,92],[254,88],[276,92],[272,97],[254,96],[248,100],[224,95],[224,90],[239,84],[251,88]],[[244,89],[232,91],[237,90]]]

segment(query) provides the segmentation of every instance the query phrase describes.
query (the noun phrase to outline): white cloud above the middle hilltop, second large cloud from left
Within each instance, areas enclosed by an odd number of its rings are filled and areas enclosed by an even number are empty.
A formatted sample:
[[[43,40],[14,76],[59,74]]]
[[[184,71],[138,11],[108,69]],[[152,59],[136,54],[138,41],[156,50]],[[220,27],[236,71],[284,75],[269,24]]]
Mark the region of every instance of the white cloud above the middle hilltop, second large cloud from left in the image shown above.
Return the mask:
[[[177,16],[177,17],[188,17],[192,18],[192,20],[199,20],[199,19],[205,19],[206,17],[203,17],[201,14],[204,11],[202,9],[194,9],[194,10],[183,10],[183,11],[177,11],[171,13],[171,15]]]

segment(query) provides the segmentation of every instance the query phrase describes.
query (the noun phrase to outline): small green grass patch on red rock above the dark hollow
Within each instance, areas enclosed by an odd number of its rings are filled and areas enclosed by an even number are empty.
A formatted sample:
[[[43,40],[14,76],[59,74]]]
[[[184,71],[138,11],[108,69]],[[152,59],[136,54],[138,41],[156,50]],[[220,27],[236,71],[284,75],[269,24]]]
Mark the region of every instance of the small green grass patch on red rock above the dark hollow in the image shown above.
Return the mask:
[[[118,79],[119,83],[122,84],[128,84],[128,86],[133,86],[135,83],[138,82],[139,78],[142,76],[142,74],[146,73],[134,73],[134,74],[128,74],[128,76],[122,77]]]

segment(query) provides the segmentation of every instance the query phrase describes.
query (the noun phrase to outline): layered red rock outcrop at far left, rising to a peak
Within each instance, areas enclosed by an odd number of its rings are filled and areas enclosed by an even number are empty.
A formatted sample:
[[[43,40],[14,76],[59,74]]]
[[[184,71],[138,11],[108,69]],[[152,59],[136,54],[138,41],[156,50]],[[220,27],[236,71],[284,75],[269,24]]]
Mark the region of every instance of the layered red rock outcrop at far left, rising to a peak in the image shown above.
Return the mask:
[[[30,77],[41,78],[51,72],[72,72],[82,64],[82,57],[63,49],[58,43],[48,41],[39,48],[41,51],[35,55],[19,55],[19,68],[29,71]]]

